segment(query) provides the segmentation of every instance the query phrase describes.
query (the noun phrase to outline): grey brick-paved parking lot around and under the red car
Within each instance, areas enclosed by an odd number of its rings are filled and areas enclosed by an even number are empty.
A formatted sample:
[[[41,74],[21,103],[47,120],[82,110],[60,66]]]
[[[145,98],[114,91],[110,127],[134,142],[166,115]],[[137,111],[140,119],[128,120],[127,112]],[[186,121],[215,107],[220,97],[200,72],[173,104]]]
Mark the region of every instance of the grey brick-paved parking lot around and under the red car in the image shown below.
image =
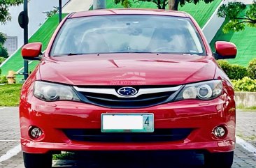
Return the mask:
[[[8,153],[11,155],[17,152],[20,137],[17,107],[0,109],[0,167],[24,168],[22,153],[19,152],[8,160],[3,160],[11,148],[15,150]],[[237,112],[237,132],[240,137],[250,140],[256,144],[254,139],[256,129],[256,112]],[[19,146],[18,146],[19,147]],[[7,156],[8,156],[7,155]],[[201,168],[204,164],[204,157],[194,153],[101,153],[100,155],[83,155],[78,160],[56,160],[54,167],[73,168]],[[256,168],[256,153],[246,151],[241,145],[236,144],[234,165],[232,168]],[[217,167],[216,167],[217,168]],[[218,167],[221,168],[221,167]]]

